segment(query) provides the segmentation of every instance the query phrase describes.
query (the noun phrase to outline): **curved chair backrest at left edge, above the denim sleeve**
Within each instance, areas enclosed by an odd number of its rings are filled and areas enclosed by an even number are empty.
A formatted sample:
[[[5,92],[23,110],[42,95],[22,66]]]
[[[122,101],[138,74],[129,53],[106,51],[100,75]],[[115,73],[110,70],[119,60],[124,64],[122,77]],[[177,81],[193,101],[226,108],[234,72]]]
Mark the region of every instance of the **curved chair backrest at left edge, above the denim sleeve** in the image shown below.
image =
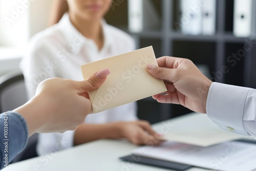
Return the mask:
[[[11,111],[27,100],[22,72],[13,71],[0,77],[0,113]]]

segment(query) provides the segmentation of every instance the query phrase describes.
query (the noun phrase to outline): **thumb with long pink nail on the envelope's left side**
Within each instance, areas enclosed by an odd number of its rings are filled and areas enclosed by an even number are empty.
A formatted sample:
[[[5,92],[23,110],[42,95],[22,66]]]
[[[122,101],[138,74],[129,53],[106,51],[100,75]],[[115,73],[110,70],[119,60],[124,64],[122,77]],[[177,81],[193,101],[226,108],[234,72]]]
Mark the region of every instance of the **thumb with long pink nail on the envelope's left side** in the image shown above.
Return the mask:
[[[104,69],[90,76],[84,81],[79,81],[79,84],[77,85],[78,90],[80,91],[79,93],[84,93],[98,89],[106,80],[106,76],[108,76],[109,74],[110,70]]]

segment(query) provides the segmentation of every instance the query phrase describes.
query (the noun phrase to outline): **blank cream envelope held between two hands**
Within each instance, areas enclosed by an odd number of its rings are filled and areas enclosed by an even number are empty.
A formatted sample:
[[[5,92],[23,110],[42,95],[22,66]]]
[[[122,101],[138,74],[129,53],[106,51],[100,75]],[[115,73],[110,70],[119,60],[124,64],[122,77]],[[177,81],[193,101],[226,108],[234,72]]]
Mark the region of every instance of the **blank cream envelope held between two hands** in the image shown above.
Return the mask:
[[[111,71],[101,87],[89,92],[93,112],[167,91],[163,80],[146,71],[147,63],[157,66],[152,46],[82,65],[84,79],[105,68]]]

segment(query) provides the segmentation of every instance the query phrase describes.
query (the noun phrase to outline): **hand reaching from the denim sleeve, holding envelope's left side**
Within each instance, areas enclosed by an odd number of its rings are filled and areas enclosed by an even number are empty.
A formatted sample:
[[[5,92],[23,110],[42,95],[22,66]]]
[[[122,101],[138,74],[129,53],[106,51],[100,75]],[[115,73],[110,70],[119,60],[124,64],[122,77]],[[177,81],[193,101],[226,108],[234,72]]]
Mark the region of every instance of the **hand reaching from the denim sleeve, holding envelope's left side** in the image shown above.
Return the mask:
[[[44,80],[37,87],[36,95],[14,112],[25,118],[29,135],[74,130],[92,112],[88,91],[100,87],[109,74],[104,69],[84,81]]]

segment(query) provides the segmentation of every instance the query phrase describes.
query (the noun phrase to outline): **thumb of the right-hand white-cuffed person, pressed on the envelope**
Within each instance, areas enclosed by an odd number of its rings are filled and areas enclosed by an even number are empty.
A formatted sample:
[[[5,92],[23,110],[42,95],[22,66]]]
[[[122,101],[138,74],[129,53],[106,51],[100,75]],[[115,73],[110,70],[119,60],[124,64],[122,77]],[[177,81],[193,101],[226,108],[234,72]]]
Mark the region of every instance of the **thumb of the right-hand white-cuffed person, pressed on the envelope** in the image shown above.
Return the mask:
[[[170,82],[174,82],[174,73],[172,73],[174,69],[161,68],[148,63],[147,72],[150,73],[153,77],[168,80]]]

